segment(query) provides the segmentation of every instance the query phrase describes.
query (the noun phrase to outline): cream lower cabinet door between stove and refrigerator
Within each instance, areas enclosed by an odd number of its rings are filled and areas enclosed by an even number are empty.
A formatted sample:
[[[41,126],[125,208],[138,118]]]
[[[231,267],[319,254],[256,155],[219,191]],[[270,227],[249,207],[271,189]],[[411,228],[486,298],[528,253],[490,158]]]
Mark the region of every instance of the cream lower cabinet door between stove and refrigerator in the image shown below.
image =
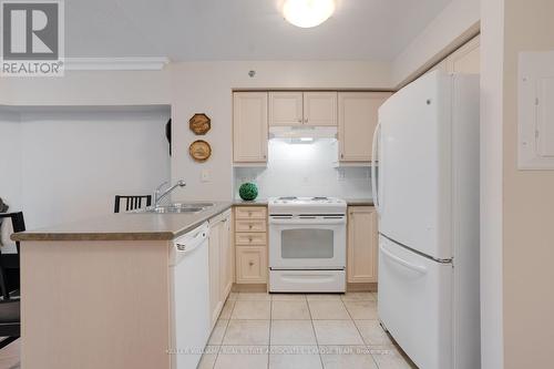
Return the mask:
[[[372,206],[348,207],[348,283],[377,283],[377,212]]]

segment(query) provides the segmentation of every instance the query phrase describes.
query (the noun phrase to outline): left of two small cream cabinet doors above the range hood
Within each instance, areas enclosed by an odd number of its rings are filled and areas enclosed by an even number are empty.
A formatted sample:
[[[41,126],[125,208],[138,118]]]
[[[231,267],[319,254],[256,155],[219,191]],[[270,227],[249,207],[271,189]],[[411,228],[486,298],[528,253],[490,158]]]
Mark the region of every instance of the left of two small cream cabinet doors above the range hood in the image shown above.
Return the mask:
[[[301,92],[269,92],[269,125],[301,125],[302,101]]]

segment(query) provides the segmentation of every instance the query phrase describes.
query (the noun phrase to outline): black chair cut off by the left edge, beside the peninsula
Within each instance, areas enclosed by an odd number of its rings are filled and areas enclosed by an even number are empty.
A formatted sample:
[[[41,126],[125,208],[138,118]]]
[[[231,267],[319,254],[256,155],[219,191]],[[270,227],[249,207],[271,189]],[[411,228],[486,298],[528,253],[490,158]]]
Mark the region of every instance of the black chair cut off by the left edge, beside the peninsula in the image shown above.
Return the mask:
[[[10,218],[13,232],[25,230],[23,213],[0,213],[0,218]],[[2,254],[0,250],[0,288],[2,299],[0,300],[0,349],[10,345],[21,336],[20,299],[13,297],[19,295],[19,242],[16,243],[16,254]]]

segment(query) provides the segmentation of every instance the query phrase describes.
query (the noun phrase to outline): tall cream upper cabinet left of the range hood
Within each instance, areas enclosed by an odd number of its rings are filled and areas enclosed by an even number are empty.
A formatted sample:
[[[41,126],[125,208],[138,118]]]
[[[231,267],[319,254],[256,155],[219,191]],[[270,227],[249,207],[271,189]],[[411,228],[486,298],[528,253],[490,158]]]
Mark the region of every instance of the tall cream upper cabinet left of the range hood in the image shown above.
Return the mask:
[[[233,94],[233,160],[267,162],[267,92]]]

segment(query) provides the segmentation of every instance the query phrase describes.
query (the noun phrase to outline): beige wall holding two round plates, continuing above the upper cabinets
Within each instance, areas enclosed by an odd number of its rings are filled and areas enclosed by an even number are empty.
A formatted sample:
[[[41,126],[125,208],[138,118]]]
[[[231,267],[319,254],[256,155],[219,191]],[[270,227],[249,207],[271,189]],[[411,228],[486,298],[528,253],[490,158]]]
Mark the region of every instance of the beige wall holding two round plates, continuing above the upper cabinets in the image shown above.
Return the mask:
[[[389,89],[388,63],[372,62],[183,62],[170,65],[172,73],[173,136],[172,177],[187,186],[175,193],[179,199],[230,199],[232,90],[233,89]],[[249,78],[248,71],[256,76]],[[205,137],[188,130],[194,113],[206,113],[212,130]],[[188,145],[208,141],[213,155],[204,164],[188,155]],[[202,171],[209,182],[202,182]]]

